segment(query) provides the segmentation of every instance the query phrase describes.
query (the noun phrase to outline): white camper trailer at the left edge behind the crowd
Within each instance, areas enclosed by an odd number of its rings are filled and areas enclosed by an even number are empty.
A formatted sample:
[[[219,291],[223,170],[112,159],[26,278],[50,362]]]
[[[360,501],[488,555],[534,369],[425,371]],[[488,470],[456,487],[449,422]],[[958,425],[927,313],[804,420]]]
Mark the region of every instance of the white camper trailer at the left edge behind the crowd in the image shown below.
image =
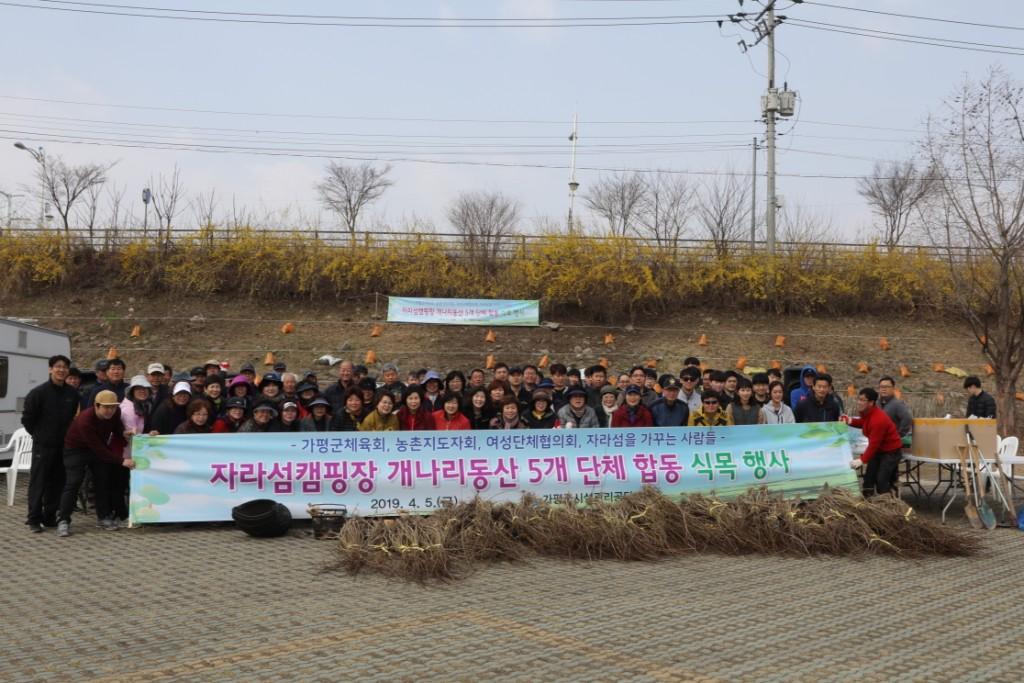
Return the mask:
[[[71,357],[71,339],[62,332],[0,317],[0,443],[22,426],[29,391],[49,378],[47,359]]]

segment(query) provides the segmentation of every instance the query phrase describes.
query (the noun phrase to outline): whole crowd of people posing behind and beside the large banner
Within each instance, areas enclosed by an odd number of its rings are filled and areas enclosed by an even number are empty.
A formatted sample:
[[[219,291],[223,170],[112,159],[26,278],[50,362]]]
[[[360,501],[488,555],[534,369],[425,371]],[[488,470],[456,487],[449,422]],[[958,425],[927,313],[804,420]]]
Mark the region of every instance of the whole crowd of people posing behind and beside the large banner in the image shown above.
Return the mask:
[[[28,524],[35,532],[56,526],[71,533],[71,515],[86,473],[91,473],[98,524],[117,529],[128,518],[125,492],[131,439],[137,434],[325,432],[459,429],[621,427],[725,427],[847,420],[831,377],[806,366],[794,386],[782,372],[750,377],[701,367],[688,357],[677,375],[635,366],[609,374],[601,365],[583,371],[553,364],[545,376],[534,365],[499,362],[468,375],[443,377],[429,369],[400,379],[386,364],[380,376],[342,360],[337,379],[313,371],[292,373],[284,364],[257,376],[252,364],[229,374],[209,360],[173,374],[161,362],[127,379],[120,358],[95,364],[96,382],[62,355],[49,359],[49,381],[26,398],[23,424],[33,437]],[[965,380],[968,415],[995,417],[995,401],[976,377]],[[886,493],[895,481],[913,418],[896,397],[896,382],[857,397],[849,422],[863,430],[867,450],[851,464],[864,467],[865,492]]]

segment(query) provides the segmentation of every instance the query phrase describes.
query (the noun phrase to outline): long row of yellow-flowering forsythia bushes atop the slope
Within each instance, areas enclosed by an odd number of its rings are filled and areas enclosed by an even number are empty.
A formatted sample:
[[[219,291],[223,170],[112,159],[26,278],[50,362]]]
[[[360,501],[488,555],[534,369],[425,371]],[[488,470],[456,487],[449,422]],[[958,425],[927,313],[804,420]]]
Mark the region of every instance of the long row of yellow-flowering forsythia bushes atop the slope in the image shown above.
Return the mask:
[[[775,257],[719,255],[566,234],[543,236],[487,262],[430,234],[337,246],[301,232],[211,228],[171,245],[134,242],[102,255],[54,232],[4,234],[0,263],[0,286],[9,295],[88,287],[101,276],[140,293],[198,297],[529,298],[548,310],[608,321],[680,308],[907,313],[948,305],[952,287],[948,264],[923,250],[808,245]]]

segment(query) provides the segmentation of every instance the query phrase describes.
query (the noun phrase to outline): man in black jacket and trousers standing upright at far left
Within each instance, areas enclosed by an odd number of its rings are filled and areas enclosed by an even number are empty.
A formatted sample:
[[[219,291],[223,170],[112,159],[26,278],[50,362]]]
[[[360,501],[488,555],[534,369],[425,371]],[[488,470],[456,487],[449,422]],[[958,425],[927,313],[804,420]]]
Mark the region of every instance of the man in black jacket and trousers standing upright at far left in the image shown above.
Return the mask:
[[[65,484],[63,439],[78,413],[78,391],[65,381],[71,360],[65,355],[54,355],[49,365],[49,380],[29,392],[22,413],[22,425],[32,435],[26,523],[33,533],[42,531],[44,524],[57,525]]]

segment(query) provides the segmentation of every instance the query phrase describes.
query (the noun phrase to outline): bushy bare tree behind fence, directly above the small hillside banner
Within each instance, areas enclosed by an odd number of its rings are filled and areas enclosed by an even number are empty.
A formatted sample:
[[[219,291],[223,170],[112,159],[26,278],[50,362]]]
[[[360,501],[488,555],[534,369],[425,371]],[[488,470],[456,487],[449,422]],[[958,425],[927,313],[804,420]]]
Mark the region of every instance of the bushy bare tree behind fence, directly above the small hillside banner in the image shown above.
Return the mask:
[[[484,268],[495,264],[515,234],[519,204],[501,193],[463,193],[449,206],[449,220],[466,238],[466,248]]]

